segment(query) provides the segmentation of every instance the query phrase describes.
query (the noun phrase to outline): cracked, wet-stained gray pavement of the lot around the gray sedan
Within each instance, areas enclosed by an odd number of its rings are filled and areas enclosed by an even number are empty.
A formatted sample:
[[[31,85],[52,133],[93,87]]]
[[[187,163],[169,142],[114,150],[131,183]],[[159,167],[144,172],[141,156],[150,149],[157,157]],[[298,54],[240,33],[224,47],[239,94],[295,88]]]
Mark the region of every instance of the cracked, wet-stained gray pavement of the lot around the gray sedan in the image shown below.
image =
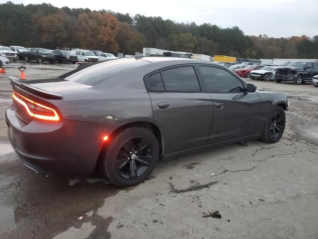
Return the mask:
[[[52,77],[73,67],[26,75]],[[11,88],[1,76],[0,238],[317,239],[318,88],[247,82],[289,96],[279,142],[252,140],[160,161],[150,179],[119,189],[100,175],[46,177],[24,167],[6,136]],[[203,218],[215,211],[222,218]]]

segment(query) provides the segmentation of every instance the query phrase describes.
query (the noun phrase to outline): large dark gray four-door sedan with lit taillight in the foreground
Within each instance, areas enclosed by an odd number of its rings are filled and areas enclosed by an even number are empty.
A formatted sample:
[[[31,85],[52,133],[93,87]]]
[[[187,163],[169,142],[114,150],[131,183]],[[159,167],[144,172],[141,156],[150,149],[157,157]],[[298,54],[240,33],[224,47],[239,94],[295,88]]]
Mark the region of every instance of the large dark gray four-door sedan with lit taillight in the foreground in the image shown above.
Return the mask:
[[[98,168],[120,187],[143,182],[161,157],[254,138],[275,143],[289,106],[285,94],[193,59],[121,58],[54,81],[10,80],[8,138],[24,165],[64,175]]]

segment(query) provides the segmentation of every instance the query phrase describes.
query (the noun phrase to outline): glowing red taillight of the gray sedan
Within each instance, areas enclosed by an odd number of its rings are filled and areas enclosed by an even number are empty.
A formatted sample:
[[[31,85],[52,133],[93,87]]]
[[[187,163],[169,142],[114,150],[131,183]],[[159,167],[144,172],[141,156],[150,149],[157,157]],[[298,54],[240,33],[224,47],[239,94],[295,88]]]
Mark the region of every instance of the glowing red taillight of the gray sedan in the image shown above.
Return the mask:
[[[61,121],[61,118],[56,112],[56,110],[48,106],[44,106],[35,101],[32,101],[15,91],[12,93],[12,98],[15,102],[23,106],[27,114],[34,119],[40,119],[45,121],[55,121],[55,122]]]

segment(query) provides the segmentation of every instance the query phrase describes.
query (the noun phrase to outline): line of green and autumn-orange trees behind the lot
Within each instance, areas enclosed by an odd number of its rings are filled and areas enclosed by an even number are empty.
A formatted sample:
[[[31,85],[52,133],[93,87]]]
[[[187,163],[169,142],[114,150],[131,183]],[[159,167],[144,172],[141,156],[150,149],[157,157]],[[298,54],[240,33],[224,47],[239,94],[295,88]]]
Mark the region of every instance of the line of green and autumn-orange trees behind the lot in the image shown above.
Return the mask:
[[[248,36],[238,26],[179,23],[110,10],[58,8],[51,4],[0,4],[0,45],[78,47],[134,54],[143,47],[241,58],[316,58],[318,35]]]

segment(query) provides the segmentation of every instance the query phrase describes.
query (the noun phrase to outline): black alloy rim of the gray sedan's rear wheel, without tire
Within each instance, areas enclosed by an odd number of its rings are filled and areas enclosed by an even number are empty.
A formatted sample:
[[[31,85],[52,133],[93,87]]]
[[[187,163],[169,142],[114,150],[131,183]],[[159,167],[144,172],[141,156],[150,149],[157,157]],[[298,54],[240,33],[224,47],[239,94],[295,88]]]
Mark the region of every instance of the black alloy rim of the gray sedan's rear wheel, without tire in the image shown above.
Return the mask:
[[[135,179],[143,175],[153,159],[148,140],[141,136],[127,139],[118,149],[115,167],[118,174],[125,179]]]

